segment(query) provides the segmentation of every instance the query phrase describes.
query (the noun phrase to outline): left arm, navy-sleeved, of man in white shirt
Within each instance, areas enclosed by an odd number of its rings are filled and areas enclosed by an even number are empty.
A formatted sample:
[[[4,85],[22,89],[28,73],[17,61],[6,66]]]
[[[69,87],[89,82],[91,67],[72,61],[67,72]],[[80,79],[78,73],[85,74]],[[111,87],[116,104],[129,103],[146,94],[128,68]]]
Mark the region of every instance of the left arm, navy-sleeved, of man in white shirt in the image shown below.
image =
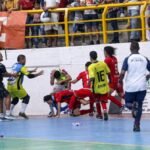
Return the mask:
[[[122,65],[120,77],[119,77],[119,82],[121,84],[123,84],[123,79],[127,70],[128,70],[128,58],[125,58],[123,65]]]

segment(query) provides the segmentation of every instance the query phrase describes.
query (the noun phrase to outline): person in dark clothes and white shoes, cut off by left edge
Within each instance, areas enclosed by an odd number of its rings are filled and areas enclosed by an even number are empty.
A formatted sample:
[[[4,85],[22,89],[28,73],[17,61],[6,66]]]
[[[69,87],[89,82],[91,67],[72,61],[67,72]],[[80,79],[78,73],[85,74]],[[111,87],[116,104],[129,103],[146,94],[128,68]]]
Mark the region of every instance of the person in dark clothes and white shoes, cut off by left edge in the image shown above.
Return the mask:
[[[0,62],[3,61],[3,56],[0,52]],[[10,116],[10,103],[11,103],[11,97],[9,95],[9,92],[5,89],[3,78],[4,77],[17,77],[16,73],[8,73],[6,70],[6,67],[0,63],[0,119],[10,119],[13,118]],[[6,108],[6,114],[3,114],[3,101]]]

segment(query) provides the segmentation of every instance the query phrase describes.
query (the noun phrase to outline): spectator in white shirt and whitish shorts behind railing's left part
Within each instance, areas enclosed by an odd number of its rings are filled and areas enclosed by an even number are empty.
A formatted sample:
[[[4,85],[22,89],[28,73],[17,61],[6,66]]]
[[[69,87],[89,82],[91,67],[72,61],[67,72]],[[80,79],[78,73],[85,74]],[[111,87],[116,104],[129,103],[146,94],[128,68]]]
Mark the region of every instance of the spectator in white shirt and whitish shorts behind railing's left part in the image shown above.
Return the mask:
[[[44,8],[43,10],[47,12],[50,9],[58,8],[60,4],[60,0],[44,0]],[[59,22],[59,14],[51,13],[51,22]],[[45,30],[47,34],[55,34],[58,35],[58,24],[47,25],[45,26]],[[53,39],[53,41],[52,41]],[[52,45],[53,43],[53,45]],[[57,46],[57,38],[49,38],[48,46]]]

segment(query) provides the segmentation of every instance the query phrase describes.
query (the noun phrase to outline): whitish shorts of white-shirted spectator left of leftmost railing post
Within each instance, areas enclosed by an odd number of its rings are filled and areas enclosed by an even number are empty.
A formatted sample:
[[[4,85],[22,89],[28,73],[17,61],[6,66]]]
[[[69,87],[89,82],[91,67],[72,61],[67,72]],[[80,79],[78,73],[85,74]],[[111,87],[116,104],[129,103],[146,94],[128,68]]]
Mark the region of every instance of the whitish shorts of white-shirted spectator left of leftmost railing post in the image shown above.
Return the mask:
[[[59,21],[59,13],[51,13],[51,22],[58,22],[58,21]],[[58,24],[45,25],[45,31],[52,29],[58,31]]]

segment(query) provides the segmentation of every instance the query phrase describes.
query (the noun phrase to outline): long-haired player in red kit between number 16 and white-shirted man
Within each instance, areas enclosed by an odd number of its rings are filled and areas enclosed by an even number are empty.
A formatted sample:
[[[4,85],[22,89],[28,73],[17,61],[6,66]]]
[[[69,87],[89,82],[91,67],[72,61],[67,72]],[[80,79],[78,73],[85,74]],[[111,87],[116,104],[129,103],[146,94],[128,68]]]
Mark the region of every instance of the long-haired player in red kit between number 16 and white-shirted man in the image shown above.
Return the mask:
[[[111,96],[111,94],[116,91],[121,101],[123,102],[124,91],[122,85],[119,83],[119,71],[118,71],[118,61],[114,56],[115,48],[112,46],[104,47],[104,55],[105,55],[105,63],[108,65],[110,69],[110,94],[108,96],[109,100],[115,103],[119,108],[123,108],[123,104],[117,100],[115,97]]]

